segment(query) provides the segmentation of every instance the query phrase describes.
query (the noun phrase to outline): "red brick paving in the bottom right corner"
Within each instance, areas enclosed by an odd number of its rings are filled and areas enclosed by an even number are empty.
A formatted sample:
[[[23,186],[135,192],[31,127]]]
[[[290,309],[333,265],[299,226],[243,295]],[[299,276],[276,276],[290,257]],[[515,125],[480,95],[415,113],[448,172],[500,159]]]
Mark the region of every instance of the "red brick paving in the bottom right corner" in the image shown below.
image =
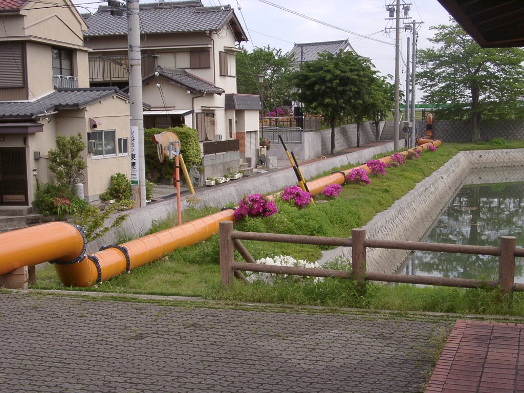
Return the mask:
[[[524,392],[523,328],[457,321],[425,393]]]

